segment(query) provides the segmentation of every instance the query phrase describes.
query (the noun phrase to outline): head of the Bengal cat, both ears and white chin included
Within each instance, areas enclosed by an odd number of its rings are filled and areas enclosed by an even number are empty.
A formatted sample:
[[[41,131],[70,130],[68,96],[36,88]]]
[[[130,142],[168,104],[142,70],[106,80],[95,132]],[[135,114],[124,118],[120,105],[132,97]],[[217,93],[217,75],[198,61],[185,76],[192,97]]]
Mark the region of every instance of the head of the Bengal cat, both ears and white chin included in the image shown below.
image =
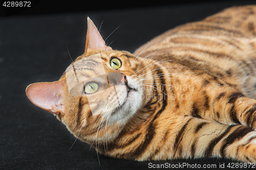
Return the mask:
[[[85,52],[56,82],[27,87],[28,99],[53,113],[83,141],[114,139],[137,114],[151,92],[134,74],[143,62],[129,52],[112,50],[88,18]]]

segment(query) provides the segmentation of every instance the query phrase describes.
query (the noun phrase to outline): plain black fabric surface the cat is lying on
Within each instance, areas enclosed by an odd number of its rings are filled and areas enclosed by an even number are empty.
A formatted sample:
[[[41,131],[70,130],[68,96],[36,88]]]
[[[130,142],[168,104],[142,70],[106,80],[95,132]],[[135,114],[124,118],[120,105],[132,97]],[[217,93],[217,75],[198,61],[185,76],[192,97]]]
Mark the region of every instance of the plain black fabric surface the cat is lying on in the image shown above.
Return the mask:
[[[150,163],[165,164],[165,167],[167,164],[177,167],[188,163],[194,169],[206,164],[216,165],[216,168],[208,169],[231,169],[227,167],[228,163],[236,161],[196,159],[136,162],[97,155],[89,144],[75,140],[52,114],[35,107],[27,99],[25,89],[34,82],[58,80],[71,63],[69,53],[74,60],[84,52],[87,16],[98,28],[103,21],[100,33],[104,39],[119,27],[106,43],[111,43],[110,46],[117,50],[134,52],[137,47],[168,29],[203,19],[233,5],[247,4],[256,3],[200,2],[1,17],[0,169],[148,169]],[[220,168],[223,164],[225,168]]]

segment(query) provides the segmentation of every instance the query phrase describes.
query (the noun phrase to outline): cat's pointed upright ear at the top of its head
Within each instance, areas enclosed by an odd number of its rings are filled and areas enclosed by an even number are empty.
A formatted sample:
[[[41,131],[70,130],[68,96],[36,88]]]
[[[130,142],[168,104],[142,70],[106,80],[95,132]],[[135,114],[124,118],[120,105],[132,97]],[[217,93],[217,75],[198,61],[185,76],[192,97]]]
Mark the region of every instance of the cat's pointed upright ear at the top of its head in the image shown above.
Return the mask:
[[[101,48],[101,50],[112,50],[110,46],[105,45],[105,41],[89,17],[87,18],[87,23],[86,49],[84,52],[87,53],[88,49],[94,50],[98,48]]]

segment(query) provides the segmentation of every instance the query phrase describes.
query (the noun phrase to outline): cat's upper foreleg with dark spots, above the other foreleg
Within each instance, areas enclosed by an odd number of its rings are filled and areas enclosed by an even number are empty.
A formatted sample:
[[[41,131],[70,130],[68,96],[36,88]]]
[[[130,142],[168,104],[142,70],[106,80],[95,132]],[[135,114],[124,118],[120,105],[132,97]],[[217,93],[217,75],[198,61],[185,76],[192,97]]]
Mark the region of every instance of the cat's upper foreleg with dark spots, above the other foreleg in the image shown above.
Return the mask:
[[[185,102],[178,101],[181,104],[186,103],[185,114],[225,125],[241,124],[256,129],[256,100],[248,98],[219,79],[206,77],[205,80],[208,80],[208,83],[200,86],[203,80],[197,82],[195,79],[194,82],[199,85],[193,84],[193,90],[183,93],[186,95]],[[178,97],[182,99],[182,96]]]

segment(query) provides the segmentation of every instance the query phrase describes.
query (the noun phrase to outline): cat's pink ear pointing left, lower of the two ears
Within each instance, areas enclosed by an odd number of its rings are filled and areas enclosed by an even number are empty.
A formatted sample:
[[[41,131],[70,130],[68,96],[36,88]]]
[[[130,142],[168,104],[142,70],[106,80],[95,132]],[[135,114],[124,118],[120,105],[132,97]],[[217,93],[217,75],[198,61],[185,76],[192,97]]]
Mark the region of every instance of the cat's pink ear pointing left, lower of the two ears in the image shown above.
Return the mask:
[[[64,114],[64,108],[61,104],[62,88],[62,81],[34,83],[27,87],[26,93],[34,105],[51,113]]]

